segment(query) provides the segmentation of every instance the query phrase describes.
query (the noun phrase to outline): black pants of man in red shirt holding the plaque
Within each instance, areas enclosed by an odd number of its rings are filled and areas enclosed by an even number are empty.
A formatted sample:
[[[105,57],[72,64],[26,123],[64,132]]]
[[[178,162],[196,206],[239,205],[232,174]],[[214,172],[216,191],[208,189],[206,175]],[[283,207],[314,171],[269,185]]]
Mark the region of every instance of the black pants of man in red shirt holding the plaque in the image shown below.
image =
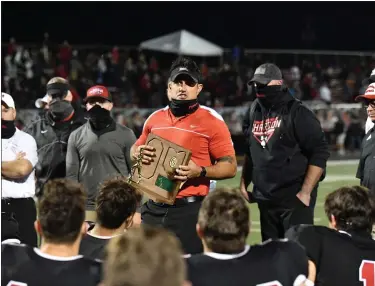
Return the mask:
[[[173,206],[148,201],[142,206],[142,223],[161,226],[172,231],[180,240],[186,254],[203,252],[203,245],[196,232],[201,200],[177,203]],[[166,245],[166,247],[168,247]]]

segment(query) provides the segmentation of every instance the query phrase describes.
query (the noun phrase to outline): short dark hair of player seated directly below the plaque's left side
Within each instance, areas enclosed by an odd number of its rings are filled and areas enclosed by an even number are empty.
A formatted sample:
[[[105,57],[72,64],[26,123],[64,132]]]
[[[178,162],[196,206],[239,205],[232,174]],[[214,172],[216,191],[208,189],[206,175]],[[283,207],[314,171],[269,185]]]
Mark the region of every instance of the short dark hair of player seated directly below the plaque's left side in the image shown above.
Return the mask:
[[[107,229],[119,228],[134,215],[141,200],[142,194],[125,177],[115,176],[104,181],[96,196],[98,224]]]

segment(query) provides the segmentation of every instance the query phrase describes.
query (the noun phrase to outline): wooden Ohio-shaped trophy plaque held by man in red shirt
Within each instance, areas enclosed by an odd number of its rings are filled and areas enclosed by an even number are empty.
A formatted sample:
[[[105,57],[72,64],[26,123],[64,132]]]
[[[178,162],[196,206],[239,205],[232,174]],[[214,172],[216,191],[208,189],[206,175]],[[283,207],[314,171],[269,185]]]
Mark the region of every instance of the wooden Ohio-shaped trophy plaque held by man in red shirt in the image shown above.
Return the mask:
[[[145,145],[155,148],[156,157],[150,164],[142,164],[141,150],[128,182],[153,201],[173,205],[183,184],[173,177],[179,165],[188,165],[191,151],[153,133],[148,135]]]

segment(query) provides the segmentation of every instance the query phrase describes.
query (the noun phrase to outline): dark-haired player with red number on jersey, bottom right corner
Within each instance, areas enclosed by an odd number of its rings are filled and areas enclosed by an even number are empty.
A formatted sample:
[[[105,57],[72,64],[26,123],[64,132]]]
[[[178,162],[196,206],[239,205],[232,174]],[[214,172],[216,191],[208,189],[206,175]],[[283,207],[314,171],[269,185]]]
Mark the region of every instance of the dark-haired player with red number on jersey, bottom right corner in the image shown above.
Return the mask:
[[[325,201],[329,228],[301,225],[286,237],[298,241],[316,265],[315,285],[375,285],[374,201],[367,189],[343,187]]]

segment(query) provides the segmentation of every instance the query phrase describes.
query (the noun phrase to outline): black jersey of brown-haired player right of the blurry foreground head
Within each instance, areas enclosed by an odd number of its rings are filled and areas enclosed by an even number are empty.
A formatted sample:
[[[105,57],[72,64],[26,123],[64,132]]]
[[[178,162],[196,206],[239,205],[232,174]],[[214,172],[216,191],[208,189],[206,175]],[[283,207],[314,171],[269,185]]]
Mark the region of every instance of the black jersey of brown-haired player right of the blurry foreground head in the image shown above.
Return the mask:
[[[308,275],[304,249],[287,240],[246,246],[236,255],[196,254],[187,265],[194,286],[289,286]]]

